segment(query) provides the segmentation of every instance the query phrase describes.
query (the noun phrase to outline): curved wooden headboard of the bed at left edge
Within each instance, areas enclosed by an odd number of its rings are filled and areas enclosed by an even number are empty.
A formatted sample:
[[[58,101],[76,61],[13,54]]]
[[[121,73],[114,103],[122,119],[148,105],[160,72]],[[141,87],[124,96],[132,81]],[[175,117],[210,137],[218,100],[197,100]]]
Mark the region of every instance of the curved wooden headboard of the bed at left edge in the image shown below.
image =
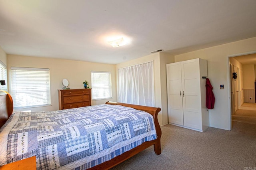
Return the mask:
[[[11,95],[6,91],[0,90],[0,128],[12,115],[12,111],[13,101]]]

